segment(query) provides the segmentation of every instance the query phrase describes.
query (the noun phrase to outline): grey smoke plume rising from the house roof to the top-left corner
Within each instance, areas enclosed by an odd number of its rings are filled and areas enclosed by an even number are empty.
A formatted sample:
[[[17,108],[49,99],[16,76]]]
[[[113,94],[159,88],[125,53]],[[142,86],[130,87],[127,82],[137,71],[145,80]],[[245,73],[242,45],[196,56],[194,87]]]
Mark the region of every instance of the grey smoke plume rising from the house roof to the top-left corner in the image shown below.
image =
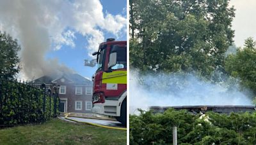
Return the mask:
[[[20,52],[22,78],[32,79],[40,76],[60,75],[72,72],[60,65],[57,59],[46,60],[45,53],[51,48],[50,34],[41,24],[44,11],[37,1],[1,1],[0,25],[3,31],[17,38],[22,50]]]

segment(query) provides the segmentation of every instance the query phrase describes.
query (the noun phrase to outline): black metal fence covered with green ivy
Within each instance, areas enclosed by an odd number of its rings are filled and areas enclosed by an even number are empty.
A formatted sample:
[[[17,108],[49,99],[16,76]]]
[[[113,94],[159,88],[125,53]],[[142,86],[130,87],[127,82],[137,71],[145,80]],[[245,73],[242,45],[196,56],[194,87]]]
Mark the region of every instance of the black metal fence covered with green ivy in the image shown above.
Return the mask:
[[[58,88],[0,79],[0,127],[41,123],[58,114]]]

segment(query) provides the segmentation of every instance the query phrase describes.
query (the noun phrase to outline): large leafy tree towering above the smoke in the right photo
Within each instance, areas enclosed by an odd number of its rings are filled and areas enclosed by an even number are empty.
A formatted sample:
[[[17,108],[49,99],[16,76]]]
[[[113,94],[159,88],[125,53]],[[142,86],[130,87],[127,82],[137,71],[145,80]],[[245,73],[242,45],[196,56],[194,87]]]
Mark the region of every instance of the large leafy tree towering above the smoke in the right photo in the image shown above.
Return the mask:
[[[234,8],[223,1],[130,1],[131,67],[143,71],[197,71],[223,65],[232,45]]]

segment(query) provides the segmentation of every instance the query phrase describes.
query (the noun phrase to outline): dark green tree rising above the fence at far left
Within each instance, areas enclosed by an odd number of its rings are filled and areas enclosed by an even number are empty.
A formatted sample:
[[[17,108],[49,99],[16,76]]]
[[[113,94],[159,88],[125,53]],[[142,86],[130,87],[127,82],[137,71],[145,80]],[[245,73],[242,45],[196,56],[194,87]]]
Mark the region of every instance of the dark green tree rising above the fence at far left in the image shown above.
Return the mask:
[[[20,71],[19,50],[17,39],[13,40],[6,32],[0,31],[0,78],[13,79]]]

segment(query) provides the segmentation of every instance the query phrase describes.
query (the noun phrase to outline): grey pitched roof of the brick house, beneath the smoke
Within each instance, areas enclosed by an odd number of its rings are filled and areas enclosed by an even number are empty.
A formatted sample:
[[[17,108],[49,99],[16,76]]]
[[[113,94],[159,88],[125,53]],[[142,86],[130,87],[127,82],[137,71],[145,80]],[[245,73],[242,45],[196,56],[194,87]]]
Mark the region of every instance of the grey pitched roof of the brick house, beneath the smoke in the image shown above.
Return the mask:
[[[93,83],[90,79],[84,78],[79,74],[63,74],[62,76],[59,76],[57,78],[52,78],[50,76],[42,76],[41,78],[35,79],[32,82],[36,84],[41,84],[41,83],[51,84],[52,81],[55,81],[60,78],[67,78],[68,80],[72,81],[72,83],[76,85],[92,85]]]

